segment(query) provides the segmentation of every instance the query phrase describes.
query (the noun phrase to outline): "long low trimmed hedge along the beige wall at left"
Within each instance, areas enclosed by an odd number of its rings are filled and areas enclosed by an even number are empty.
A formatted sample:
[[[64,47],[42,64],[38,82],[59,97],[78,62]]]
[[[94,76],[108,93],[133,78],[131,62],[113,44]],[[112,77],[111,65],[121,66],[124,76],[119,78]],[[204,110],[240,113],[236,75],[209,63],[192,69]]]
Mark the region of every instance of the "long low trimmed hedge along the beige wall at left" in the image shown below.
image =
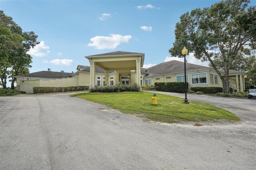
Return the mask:
[[[89,86],[72,86],[72,87],[33,87],[33,93],[58,93],[67,91],[88,90]]]

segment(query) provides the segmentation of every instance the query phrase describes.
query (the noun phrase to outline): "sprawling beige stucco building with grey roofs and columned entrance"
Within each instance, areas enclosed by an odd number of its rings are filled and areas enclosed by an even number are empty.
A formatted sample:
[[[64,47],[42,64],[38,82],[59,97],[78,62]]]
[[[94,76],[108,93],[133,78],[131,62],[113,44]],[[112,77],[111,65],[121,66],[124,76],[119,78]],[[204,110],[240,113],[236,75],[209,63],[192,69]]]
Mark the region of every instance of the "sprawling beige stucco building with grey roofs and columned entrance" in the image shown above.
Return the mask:
[[[90,66],[78,65],[76,72],[39,71],[16,76],[17,89],[33,93],[33,87],[104,86],[117,83],[154,85],[155,82],[184,81],[184,63],[168,61],[143,68],[144,53],[116,51],[86,56]],[[220,71],[224,73],[223,71]],[[186,63],[189,87],[222,87],[216,71],[210,67]],[[244,90],[244,73],[230,70],[229,85]]]

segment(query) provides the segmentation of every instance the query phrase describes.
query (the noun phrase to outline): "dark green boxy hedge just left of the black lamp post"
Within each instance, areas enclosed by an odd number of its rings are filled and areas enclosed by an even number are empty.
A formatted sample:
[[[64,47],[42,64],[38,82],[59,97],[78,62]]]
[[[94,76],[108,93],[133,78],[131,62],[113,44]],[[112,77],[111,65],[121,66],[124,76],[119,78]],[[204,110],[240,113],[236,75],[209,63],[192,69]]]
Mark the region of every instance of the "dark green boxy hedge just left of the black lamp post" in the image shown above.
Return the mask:
[[[184,93],[184,82],[156,82],[155,89],[157,91],[168,91],[168,92],[177,92]],[[188,88],[188,83],[187,83]]]

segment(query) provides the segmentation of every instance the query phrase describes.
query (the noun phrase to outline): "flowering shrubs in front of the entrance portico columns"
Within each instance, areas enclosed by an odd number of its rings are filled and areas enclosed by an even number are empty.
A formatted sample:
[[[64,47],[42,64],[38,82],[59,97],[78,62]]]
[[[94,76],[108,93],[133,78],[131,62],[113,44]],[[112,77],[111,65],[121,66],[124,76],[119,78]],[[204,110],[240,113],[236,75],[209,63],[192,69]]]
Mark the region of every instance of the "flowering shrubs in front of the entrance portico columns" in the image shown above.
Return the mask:
[[[133,84],[116,84],[116,85],[106,85],[106,86],[97,86],[90,87],[90,92],[105,92],[105,93],[114,93],[121,91],[140,91],[140,85],[137,83]]]

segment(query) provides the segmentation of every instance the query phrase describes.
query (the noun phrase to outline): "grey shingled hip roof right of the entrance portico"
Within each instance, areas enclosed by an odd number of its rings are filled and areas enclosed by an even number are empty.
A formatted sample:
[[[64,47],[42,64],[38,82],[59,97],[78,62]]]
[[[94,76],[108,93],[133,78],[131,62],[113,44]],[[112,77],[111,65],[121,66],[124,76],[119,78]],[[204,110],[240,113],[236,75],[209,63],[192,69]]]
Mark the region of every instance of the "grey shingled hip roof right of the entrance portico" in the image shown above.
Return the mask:
[[[186,71],[198,70],[198,69],[209,69],[210,67],[205,67],[196,64],[186,63]],[[172,74],[172,73],[179,73],[184,72],[184,62],[173,60],[167,61],[164,63],[160,63],[158,65],[154,65],[148,68],[148,77],[157,76],[157,75],[164,75],[164,74]]]

